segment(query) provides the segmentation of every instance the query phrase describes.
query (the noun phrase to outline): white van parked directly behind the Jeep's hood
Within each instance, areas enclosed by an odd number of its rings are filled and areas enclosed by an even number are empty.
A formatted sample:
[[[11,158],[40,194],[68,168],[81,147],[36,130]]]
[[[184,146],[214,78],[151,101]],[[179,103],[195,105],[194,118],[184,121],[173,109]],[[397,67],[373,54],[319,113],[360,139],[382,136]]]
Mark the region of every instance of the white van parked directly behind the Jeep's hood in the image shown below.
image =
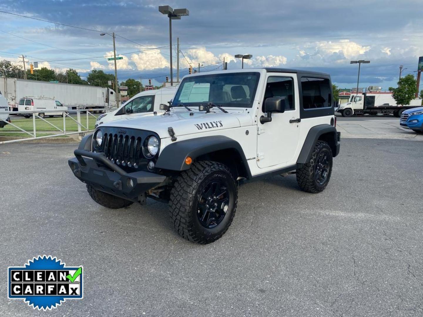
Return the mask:
[[[176,93],[178,86],[163,87],[156,90],[146,90],[137,93],[115,111],[99,115],[96,127],[102,123],[118,119],[130,118],[138,115],[152,115],[154,112],[164,112],[160,110],[160,104],[168,104]]]

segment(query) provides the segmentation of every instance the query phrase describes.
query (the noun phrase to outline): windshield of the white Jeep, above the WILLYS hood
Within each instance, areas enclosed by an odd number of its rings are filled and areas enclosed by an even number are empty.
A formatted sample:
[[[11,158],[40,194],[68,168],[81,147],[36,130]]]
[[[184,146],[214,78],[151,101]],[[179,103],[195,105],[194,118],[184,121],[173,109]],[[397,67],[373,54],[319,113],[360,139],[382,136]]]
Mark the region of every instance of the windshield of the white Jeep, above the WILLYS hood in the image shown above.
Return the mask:
[[[212,102],[222,107],[253,107],[260,73],[212,74],[185,78],[172,105],[199,106]]]

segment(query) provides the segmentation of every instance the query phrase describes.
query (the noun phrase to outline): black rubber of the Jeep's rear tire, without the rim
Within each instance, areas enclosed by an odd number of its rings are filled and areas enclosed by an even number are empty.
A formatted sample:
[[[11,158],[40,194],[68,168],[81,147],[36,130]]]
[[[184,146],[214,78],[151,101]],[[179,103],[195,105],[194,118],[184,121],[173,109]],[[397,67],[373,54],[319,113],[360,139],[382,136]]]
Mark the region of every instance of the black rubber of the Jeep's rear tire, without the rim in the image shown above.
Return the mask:
[[[316,159],[319,157],[320,153],[324,151],[327,154],[329,160],[329,172],[326,180],[323,184],[319,184],[315,178],[315,168],[316,168]],[[330,175],[332,174],[332,150],[330,149],[329,144],[325,141],[317,141],[314,146],[313,154],[311,155],[310,162],[304,164],[300,169],[297,169],[297,183],[298,186],[308,193],[317,194],[323,191],[330,180]]]

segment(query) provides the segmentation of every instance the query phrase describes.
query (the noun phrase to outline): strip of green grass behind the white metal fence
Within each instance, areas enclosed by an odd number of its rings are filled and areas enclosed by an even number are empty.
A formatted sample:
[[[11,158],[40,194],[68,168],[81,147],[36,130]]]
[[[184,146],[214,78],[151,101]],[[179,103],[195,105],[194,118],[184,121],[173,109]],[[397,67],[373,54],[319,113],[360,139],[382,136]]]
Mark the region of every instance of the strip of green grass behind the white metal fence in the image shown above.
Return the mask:
[[[94,118],[91,115],[88,115],[89,120],[88,120],[88,128],[89,130],[93,130],[94,129],[94,124],[96,123],[96,118]],[[72,118],[74,118],[76,120],[76,115],[72,115]],[[19,128],[24,129],[25,131],[28,131],[30,133],[33,132],[33,119],[32,118],[28,118],[28,119],[14,119],[13,116],[11,116],[11,120],[12,123],[15,126],[18,126]],[[62,117],[53,117],[53,118],[44,118],[44,120],[54,124],[55,126],[57,126],[58,128],[63,130],[63,118]],[[35,119],[35,124],[36,124],[36,131],[57,131],[57,133],[54,134],[59,134],[60,131],[57,130],[55,127],[50,126],[48,123],[44,122],[41,119],[36,118]],[[81,124],[82,126],[86,126],[87,125],[87,115],[85,113],[81,113]],[[81,130],[84,131],[86,130],[85,128],[81,127]],[[20,130],[15,128],[14,126],[11,126],[10,124],[6,125],[4,128],[0,129],[1,132],[8,132],[8,131],[14,131],[14,132],[19,132]],[[72,120],[69,117],[66,117],[66,132],[73,132],[73,131],[78,131],[78,125],[77,123]],[[38,133],[37,133],[38,135]]]

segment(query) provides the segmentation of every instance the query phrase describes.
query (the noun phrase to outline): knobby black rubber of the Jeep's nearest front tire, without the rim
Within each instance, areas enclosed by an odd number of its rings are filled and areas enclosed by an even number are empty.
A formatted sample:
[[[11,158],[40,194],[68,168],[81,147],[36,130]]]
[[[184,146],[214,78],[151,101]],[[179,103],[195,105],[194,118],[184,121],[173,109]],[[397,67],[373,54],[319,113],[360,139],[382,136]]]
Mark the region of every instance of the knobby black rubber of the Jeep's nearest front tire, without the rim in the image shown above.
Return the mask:
[[[198,219],[197,202],[201,190],[212,180],[226,182],[229,207],[223,220],[212,229],[203,227]],[[224,164],[214,161],[199,161],[176,178],[170,191],[169,213],[175,230],[192,242],[207,244],[216,241],[228,230],[235,216],[238,202],[238,189],[231,170]]]

